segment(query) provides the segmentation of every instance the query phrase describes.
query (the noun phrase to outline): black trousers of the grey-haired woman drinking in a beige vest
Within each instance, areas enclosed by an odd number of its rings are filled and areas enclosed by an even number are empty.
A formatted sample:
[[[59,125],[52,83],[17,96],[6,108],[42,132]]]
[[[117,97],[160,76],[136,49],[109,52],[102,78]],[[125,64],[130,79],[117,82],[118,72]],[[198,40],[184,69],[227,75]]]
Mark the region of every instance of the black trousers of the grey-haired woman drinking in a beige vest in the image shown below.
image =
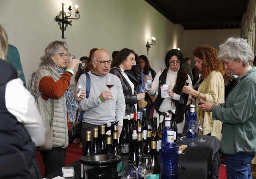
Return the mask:
[[[52,147],[49,151],[40,152],[45,164],[45,176],[65,166],[66,148]]]

